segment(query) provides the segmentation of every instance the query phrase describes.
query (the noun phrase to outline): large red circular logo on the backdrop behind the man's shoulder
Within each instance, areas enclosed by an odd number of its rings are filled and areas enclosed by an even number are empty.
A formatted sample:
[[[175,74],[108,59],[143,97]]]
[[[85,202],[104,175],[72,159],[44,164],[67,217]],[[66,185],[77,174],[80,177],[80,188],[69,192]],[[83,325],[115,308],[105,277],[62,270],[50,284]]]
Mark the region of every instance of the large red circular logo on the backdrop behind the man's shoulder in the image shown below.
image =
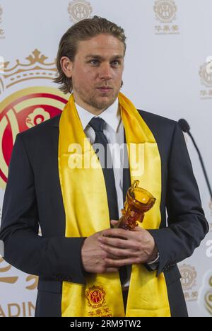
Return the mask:
[[[35,87],[18,91],[0,105],[0,187],[5,189],[8,165],[19,132],[35,127],[59,115],[66,105],[66,95],[55,88]]]

